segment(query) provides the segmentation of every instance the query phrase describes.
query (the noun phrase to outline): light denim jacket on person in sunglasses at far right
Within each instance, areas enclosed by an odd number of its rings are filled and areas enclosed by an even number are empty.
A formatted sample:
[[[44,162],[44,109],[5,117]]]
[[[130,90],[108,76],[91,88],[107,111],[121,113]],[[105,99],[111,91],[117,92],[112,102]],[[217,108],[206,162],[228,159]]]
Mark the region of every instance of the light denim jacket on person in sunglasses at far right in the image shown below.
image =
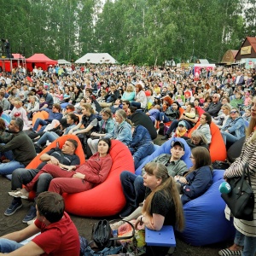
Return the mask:
[[[236,119],[228,118],[225,125],[221,128],[221,131],[228,130],[231,134],[240,139],[245,136],[245,124],[244,119],[242,117],[238,117]]]

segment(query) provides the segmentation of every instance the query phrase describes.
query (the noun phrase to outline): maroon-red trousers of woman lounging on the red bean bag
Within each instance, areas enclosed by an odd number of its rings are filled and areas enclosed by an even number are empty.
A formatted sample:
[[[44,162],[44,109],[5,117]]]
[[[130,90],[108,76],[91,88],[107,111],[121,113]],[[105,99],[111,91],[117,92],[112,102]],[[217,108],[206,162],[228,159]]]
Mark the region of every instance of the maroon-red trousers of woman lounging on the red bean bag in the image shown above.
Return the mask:
[[[44,172],[47,172],[54,177],[54,179],[49,183],[48,191],[58,194],[62,194],[64,192],[78,193],[92,189],[93,187],[92,183],[78,177],[73,177],[76,172],[67,172],[62,170],[59,166],[47,164],[40,172],[38,172],[30,183],[26,184],[27,191],[31,191],[33,189],[35,183],[38,181],[38,177]]]

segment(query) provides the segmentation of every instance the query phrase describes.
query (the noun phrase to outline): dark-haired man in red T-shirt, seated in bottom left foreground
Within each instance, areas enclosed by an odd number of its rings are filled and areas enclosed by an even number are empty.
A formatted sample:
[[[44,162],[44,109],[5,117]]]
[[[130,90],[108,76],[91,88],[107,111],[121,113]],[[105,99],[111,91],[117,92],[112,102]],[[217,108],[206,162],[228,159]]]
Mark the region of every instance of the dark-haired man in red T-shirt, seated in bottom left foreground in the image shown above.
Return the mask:
[[[61,255],[79,256],[79,232],[73,221],[64,212],[65,204],[61,195],[44,192],[37,199],[35,223],[0,238],[0,255]],[[40,234],[38,234],[41,232]],[[20,244],[34,236],[26,245]],[[7,254],[4,254],[7,253]]]

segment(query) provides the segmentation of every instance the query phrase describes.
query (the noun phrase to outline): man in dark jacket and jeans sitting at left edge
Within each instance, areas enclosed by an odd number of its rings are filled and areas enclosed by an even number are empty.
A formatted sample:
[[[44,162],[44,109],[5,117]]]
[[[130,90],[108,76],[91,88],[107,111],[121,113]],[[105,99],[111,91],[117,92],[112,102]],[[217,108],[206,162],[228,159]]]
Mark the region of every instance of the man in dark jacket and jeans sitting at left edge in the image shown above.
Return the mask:
[[[14,134],[14,137],[9,143],[0,144],[0,154],[7,151],[12,151],[13,159],[9,163],[0,165],[0,174],[9,175],[17,168],[24,168],[35,157],[36,151],[30,137],[23,130],[24,122],[22,119],[11,119],[9,124],[9,132]]]

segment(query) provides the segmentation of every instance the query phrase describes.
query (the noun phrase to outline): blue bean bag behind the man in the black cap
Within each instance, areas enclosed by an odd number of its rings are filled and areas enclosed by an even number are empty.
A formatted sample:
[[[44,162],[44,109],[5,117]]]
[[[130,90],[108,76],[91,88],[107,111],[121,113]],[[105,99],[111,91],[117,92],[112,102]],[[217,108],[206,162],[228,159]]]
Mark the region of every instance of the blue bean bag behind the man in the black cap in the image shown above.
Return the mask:
[[[170,140],[168,140],[166,143],[162,144],[159,148],[157,148],[153,154],[148,155],[147,157],[145,157],[143,159],[143,163],[141,164],[141,166],[139,166],[135,172],[135,174],[137,175],[142,175],[142,169],[143,166],[145,166],[148,162],[150,162],[151,160],[154,160],[155,157],[159,156],[160,154],[170,154],[170,150],[171,150],[171,143],[173,140],[176,141],[180,141],[184,144],[185,146],[185,154],[183,154],[183,157],[181,158],[186,165],[189,167],[192,166],[192,162],[189,159],[189,156],[191,154],[189,145],[187,143],[185,143],[185,140],[183,138],[171,138]]]

